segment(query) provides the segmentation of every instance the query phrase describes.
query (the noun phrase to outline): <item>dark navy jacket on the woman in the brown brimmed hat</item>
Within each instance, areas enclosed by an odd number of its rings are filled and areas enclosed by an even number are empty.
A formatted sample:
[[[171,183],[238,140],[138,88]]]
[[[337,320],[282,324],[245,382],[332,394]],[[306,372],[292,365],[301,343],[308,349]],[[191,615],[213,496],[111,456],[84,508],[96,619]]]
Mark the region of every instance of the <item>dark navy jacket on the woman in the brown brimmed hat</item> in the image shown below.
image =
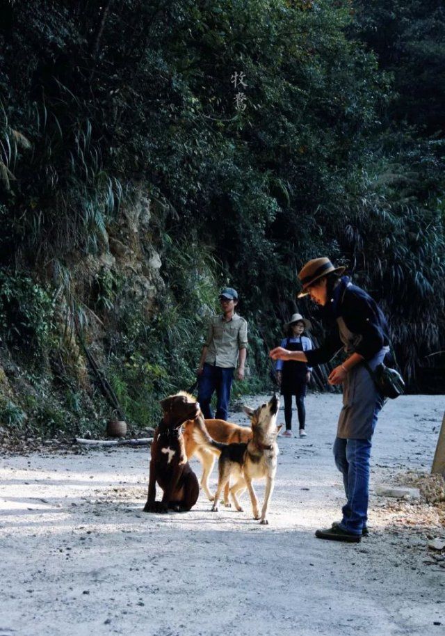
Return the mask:
[[[348,276],[343,276],[323,307],[323,319],[330,325],[329,335],[321,347],[305,351],[309,365],[328,362],[344,347],[337,326],[339,317],[343,318],[349,331],[362,335],[355,353],[365,360],[371,360],[389,344],[387,321],[380,307],[363,289],[350,283]]]

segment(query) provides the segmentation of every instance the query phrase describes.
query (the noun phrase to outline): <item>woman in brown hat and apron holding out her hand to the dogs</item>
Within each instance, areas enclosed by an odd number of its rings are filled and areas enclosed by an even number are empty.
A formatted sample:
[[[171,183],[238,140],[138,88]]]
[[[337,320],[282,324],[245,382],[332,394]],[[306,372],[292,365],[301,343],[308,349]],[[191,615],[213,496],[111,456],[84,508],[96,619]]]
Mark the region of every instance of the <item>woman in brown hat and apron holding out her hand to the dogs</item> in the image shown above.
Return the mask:
[[[346,359],[332,369],[330,384],[343,384],[334,459],[343,475],[346,504],[339,523],[317,530],[319,539],[357,543],[368,534],[369,462],[371,440],[383,398],[369,371],[383,362],[389,351],[387,323],[382,310],[363,289],[341,276],[344,267],[334,267],[328,258],[316,258],[298,274],[302,285],[299,298],[309,294],[323,307],[330,325],[327,340],[312,351],[289,351],[277,347],[270,351],[274,360],[298,360],[311,365],[326,363],[343,349]]]

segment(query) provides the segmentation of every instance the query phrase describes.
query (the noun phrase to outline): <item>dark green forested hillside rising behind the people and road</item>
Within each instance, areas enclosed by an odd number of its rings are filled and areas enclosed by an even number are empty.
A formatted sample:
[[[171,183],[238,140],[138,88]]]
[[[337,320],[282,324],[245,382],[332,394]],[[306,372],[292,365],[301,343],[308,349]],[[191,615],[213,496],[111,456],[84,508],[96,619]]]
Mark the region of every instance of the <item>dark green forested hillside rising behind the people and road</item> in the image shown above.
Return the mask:
[[[152,424],[226,284],[250,325],[236,395],[267,388],[293,311],[323,336],[296,304],[320,255],[381,303],[411,390],[443,390],[442,2],[0,12],[3,433],[100,430],[114,397]]]

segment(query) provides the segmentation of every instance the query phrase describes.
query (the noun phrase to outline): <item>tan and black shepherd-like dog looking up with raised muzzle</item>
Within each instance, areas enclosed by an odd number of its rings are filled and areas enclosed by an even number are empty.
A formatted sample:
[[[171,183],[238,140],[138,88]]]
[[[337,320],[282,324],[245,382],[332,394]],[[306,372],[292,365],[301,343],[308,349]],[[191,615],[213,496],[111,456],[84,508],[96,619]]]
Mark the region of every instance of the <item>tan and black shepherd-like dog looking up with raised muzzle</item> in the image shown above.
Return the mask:
[[[259,406],[255,410],[244,407],[245,413],[252,423],[252,439],[248,443],[229,444],[223,447],[218,462],[219,479],[213,500],[212,511],[218,511],[218,501],[223,488],[234,477],[235,483],[229,488],[234,505],[238,511],[242,511],[237,495],[248,488],[254,519],[259,519],[257,495],[252,486],[253,479],[266,479],[266,493],[261,510],[261,523],[267,524],[267,511],[275,484],[277,472],[277,435],[281,426],[277,427],[277,413],[279,403],[274,394],[267,404]],[[227,501],[226,501],[227,504]]]

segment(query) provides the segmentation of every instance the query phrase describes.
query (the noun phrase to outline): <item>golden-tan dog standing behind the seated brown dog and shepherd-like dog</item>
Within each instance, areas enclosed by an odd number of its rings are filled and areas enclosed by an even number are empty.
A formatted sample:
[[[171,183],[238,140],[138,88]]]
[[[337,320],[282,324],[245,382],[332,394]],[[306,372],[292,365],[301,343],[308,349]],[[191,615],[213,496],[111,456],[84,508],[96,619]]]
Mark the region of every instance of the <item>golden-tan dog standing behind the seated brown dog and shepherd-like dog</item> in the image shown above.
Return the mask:
[[[240,427],[238,424],[225,422],[224,420],[204,420],[204,422],[209,435],[217,442],[239,444],[248,443],[252,439],[252,429],[250,427]],[[197,430],[196,420],[184,422],[182,434],[184,436],[186,456],[191,459],[195,455],[200,460],[202,464],[201,487],[209,501],[213,501],[214,497],[209,490],[209,476],[213,470],[215,459],[220,455],[220,450],[209,446],[207,440]]]

